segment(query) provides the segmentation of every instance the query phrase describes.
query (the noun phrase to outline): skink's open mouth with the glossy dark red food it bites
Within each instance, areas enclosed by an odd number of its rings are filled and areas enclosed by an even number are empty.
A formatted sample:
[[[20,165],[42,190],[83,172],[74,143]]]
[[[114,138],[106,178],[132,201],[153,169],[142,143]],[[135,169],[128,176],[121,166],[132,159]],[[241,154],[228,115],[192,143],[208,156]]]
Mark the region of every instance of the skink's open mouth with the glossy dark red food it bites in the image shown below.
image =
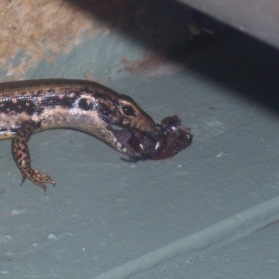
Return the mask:
[[[130,162],[138,160],[165,160],[172,158],[179,151],[186,149],[193,139],[190,128],[183,127],[178,116],[165,117],[156,125],[156,129],[148,131],[135,127],[115,125],[111,119],[105,118],[110,130],[107,141],[117,151],[128,155]]]

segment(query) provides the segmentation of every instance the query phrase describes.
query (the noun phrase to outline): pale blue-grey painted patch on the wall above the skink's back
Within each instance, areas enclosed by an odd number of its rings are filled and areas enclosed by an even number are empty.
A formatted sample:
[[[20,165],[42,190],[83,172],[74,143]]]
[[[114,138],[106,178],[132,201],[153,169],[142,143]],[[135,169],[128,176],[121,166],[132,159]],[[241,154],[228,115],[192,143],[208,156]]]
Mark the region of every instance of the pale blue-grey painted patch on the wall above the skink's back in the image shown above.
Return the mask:
[[[73,47],[70,53],[56,57],[56,63],[42,59],[36,67],[29,70],[26,79],[42,77],[86,79],[85,71],[100,80],[115,80],[127,75],[123,70],[121,58],[140,59],[146,52],[142,45],[127,36],[112,31],[93,37],[84,36],[82,44]]]

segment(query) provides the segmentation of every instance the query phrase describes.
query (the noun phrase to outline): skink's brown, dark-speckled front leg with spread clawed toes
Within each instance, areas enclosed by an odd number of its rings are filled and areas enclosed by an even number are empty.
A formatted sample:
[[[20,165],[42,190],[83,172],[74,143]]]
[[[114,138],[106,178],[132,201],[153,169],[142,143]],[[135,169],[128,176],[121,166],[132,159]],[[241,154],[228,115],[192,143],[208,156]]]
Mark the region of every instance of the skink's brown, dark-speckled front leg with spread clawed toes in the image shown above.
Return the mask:
[[[29,155],[29,148],[27,142],[31,137],[35,123],[32,121],[23,122],[22,127],[17,130],[17,134],[13,138],[12,149],[15,163],[22,173],[22,183],[26,178],[43,188],[45,191],[47,187],[44,183],[51,183],[55,186],[55,182],[50,178],[49,174],[40,174],[38,169],[32,169]]]

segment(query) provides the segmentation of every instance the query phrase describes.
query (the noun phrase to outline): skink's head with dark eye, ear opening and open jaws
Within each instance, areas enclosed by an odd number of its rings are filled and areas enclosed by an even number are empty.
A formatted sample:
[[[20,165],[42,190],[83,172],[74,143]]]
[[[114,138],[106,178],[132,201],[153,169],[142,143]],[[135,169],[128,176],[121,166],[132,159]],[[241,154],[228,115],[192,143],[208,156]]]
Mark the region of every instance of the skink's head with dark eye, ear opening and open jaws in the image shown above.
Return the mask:
[[[92,83],[80,88],[71,110],[78,121],[77,130],[98,137],[121,153],[133,156],[128,144],[133,129],[151,133],[156,123],[129,96],[116,93],[103,85]],[[77,120],[79,119],[79,120]]]

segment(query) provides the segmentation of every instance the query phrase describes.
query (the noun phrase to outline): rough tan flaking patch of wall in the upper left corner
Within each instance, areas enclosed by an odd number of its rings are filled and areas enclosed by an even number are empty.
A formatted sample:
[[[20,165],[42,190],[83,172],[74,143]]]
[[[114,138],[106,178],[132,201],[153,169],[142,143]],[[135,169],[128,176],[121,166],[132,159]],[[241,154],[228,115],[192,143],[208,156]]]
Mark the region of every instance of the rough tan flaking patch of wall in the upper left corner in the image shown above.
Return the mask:
[[[6,1],[1,7],[0,63],[8,70],[7,79],[18,79],[40,59],[55,63],[56,55],[81,43],[84,32],[98,31],[89,14],[68,1]]]

